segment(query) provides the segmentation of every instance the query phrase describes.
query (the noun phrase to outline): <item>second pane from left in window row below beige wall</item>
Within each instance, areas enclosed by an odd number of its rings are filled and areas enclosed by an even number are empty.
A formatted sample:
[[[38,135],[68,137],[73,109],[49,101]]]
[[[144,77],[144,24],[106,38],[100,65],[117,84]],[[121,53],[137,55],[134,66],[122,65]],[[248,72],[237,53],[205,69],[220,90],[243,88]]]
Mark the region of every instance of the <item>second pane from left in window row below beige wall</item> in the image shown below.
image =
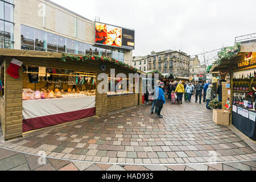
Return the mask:
[[[46,51],[46,32],[35,29],[35,51]]]

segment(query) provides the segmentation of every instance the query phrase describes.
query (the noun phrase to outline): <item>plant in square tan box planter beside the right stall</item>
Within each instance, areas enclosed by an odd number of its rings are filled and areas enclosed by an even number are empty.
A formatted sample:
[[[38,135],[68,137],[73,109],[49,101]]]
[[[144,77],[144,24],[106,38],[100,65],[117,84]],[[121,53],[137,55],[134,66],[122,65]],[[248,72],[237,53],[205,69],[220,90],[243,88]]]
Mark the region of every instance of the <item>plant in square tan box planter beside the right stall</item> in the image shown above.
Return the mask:
[[[209,102],[209,107],[213,109],[213,121],[217,125],[229,125],[229,111],[221,109],[222,104],[217,98]]]

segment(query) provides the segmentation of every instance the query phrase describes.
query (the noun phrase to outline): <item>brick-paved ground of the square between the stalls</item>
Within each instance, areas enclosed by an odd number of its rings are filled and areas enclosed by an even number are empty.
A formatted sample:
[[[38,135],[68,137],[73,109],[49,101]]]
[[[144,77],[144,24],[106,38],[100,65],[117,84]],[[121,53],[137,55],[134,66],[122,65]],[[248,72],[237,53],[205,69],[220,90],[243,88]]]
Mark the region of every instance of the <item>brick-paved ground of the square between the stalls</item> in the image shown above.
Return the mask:
[[[0,170],[255,171],[256,152],[228,127],[216,125],[205,104],[168,102],[163,119],[148,113],[150,105],[144,105],[1,143]],[[39,151],[46,164],[39,164]]]

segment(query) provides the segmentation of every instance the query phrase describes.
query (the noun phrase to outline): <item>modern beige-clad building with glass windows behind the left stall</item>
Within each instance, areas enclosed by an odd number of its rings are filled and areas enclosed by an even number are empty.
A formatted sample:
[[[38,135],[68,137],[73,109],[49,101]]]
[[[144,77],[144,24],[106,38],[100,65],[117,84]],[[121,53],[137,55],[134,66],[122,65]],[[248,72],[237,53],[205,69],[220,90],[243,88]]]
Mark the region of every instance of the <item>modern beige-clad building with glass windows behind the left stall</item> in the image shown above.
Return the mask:
[[[94,21],[49,0],[0,0],[0,31],[0,48],[132,60],[131,50],[94,44]]]

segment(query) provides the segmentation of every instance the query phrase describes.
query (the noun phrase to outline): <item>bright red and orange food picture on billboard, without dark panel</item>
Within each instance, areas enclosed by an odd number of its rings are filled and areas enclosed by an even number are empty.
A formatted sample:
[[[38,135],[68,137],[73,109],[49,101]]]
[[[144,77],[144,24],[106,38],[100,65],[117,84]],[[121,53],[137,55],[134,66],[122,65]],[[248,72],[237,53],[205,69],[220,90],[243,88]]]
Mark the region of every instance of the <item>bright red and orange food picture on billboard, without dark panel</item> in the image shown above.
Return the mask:
[[[95,43],[122,47],[122,28],[96,22]]]

